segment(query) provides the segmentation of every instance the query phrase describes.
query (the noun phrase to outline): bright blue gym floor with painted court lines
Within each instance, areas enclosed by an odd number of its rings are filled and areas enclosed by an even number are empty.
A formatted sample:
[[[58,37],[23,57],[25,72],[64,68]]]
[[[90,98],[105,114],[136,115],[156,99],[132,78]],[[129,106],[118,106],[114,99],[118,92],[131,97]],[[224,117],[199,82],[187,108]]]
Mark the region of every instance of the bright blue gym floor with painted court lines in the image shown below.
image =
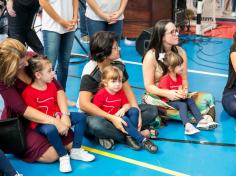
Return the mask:
[[[79,35],[79,34],[78,34]],[[236,120],[228,116],[222,108],[222,91],[227,80],[228,53],[231,39],[181,36],[182,47],[188,55],[188,79],[190,91],[205,91],[214,95],[216,100],[217,122],[214,131],[201,131],[195,136],[184,135],[180,122],[169,121],[168,126],[159,130],[157,154],[146,150],[133,151],[123,144],[114,150],[104,150],[97,143],[84,139],[83,146],[96,155],[91,163],[72,161],[73,172],[62,174],[59,163],[26,163],[9,155],[15,168],[24,176],[235,176],[236,175]],[[85,47],[88,48],[88,46]],[[81,53],[75,42],[73,53]],[[121,41],[121,56],[126,63],[129,82],[137,100],[144,93],[141,56],[134,46]],[[72,58],[67,82],[67,95],[76,101],[79,93],[80,76],[85,62]],[[78,61],[78,62],[77,62]],[[0,104],[2,106],[2,104]],[[71,109],[76,111],[75,108]]]

